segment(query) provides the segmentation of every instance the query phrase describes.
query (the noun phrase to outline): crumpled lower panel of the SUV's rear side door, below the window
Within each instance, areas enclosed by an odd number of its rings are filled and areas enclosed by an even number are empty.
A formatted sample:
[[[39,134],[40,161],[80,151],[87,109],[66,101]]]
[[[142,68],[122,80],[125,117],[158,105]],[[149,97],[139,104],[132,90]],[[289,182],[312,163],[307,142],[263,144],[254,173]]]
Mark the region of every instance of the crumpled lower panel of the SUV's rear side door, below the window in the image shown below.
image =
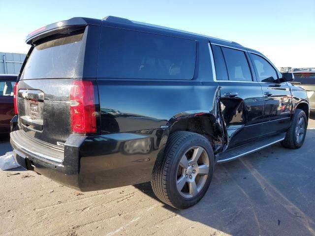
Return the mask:
[[[250,142],[263,135],[263,96],[258,83],[220,81],[220,108],[227,130],[227,145]],[[229,93],[237,93],[230,96]]]

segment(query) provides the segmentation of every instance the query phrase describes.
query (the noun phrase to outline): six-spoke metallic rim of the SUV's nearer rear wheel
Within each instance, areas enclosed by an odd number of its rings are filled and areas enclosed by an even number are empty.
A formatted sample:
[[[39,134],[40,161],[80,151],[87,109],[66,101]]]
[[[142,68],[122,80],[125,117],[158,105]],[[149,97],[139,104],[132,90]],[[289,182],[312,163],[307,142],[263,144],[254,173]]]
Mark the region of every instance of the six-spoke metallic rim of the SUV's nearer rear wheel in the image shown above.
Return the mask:
[[[177,168],[176,186],[184,198],[195,197],[204,187],[209,174],[209,158],[200,146],[189,148]]]

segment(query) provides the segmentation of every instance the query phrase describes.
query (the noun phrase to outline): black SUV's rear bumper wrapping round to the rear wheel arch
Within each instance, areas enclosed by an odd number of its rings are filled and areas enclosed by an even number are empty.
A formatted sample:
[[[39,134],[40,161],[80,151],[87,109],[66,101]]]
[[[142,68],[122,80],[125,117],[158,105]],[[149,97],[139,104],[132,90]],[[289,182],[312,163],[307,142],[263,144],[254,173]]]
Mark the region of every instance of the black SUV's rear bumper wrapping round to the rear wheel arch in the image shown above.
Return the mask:
[[[150,181],[157,156],[162,155],[165,134],[168,130],[71,134],[63,151],[41,145],[23,130],[11,132],[10,142],[15,160],[24,168],[77,190],[93,191]]]

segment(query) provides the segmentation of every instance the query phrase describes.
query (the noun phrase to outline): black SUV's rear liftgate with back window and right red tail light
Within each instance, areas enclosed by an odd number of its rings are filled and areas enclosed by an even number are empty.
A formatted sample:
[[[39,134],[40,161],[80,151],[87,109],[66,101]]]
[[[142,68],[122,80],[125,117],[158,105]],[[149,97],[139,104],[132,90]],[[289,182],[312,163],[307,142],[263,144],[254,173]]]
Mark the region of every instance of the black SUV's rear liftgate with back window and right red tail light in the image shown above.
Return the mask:
[[[97,133],[97,128],[85,132],[82,126],[81,130],[75,126],[75,122],[87,122],[84,113],[90,112],[94,118],[98,113],[97,86],[89,70],[93,66],[85,66],[93,54],[93,47],[87,53],[89,27],[95,26],[48,30],[37,40],[30,40],[32,48],[16,89],[18,123],[30,138],[49,143],[49,147],[62,149],[77,130],[81,134]],[[92,98],[83,97],[86,94]]]

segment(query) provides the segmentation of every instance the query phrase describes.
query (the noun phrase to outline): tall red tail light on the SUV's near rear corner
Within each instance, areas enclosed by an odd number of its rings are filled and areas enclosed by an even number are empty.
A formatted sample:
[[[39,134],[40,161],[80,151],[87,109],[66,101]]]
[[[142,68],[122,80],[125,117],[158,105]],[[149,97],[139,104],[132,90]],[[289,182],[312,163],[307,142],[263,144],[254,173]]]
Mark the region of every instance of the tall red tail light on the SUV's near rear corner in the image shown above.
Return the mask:
[[[70,91],[71,131],[96,133],[95,93],[92,81],[73,81]]]

